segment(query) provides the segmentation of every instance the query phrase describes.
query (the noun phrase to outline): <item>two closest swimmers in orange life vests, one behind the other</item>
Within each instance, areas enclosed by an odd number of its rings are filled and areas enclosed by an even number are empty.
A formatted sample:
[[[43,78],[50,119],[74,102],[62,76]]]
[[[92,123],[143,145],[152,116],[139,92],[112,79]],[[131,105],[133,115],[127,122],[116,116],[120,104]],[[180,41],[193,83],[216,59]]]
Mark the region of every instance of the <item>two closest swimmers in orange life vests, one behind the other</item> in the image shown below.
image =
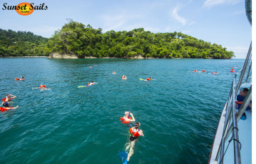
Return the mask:
[[[131,122],[135,122],[135,118],[133,116],[133,113],[130,113],[128,111],[125,112],[125,116],[121,117],[121,121],[122,123],[131,123]],[[131,125],[132,126],[132,125]],[[126,147],[126,152],[129,150],[129,153],[127,155],[127,159],[124,163],[127,163],[127,161],[130,160],[130,156],[133,155],[133,147],[135,145],[135,141],[138,139],[139,136],[144,136],[143,134],[143,130],[139,129],[140,127],[140,123],[135,123],[134,126],[129,128],[130,131],[130,143],[128,144],[128,146]]]

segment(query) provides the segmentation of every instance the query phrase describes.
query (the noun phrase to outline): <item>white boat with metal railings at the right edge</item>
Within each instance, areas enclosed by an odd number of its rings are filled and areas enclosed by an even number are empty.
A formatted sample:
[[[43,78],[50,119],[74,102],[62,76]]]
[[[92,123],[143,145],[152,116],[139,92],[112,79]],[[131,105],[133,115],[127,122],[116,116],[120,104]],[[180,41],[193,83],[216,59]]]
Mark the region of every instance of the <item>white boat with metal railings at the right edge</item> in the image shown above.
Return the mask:
[[[252,25],[252,0],[245,0],[245,11]],[[230,96],[217,124],[208,164],[252,163],[252,110],[247,110],[252,101],[251,71],[252,43],[244,66],[233,78]],[[248,88],[248,91],[242,105],[237,110],[235,101],[237,101],[237,93],[241,88]]]

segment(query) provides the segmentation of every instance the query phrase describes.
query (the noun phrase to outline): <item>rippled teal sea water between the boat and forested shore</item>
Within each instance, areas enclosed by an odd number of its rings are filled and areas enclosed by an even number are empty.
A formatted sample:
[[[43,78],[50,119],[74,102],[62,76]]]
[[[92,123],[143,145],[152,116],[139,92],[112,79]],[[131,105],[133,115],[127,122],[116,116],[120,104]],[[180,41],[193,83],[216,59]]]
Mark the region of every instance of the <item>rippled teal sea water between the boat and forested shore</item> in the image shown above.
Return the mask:
[[[19,106],[0,113],[0,163],[122,163],[129,110],[145,137],[128,163],[207,163],[231,67],[243,62],[0,58],[0,98],[11,93]],[[32,89],[40,85],[51,91]]]

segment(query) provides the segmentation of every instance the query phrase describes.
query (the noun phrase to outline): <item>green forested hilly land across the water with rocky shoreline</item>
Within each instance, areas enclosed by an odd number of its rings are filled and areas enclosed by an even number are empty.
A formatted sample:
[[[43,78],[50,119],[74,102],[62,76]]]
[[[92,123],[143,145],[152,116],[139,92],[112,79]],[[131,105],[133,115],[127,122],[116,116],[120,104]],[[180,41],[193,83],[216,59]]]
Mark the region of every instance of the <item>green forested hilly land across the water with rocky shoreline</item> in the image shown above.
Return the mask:
[[[181,32],[157,33],[143,28],[132,31],[93,29],[69,19],[49,39],[26,31],[0,29],[0,56],[70,55],[77,58],[231,58],[216,43],[198,40]]]

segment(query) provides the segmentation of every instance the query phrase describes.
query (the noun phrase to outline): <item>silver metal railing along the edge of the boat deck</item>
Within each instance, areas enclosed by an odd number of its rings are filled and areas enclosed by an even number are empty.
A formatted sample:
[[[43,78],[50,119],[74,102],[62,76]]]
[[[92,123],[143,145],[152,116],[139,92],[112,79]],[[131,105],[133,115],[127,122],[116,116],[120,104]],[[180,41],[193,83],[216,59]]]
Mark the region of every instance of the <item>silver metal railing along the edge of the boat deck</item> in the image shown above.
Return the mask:
[[[248,78],[250,77],[250,73],[251,73],[250,70],[252,67],[251,58],[252,58],[252,42],[250,44],[250,48],[248,50],[247,58],[245,59],[243,68],[240,71],[238,71],[235,74],[235,78],[233,78],[232,86],[230,88],[230,95],[225,107],[223,108],[223,110],[226,111],[225,123],[224,123],[223,132],[222,132],[222,140],[220,142],[220,145],[218,145],[217,147],[218,151],[217,151],[217,155],[215,156],[215,161],[218,161],[219,159],[220,161],[219,163],[221,164],[223,163],[223,158],[225,156],[225,150],[224,150],[225,142],[230,137],[231,133],[232,133],[231,139],[233,140],[233,145],[234,145],[234,161],[235,163],[241,163],[240,142],[239,142],[237,122],[240,120],[242,114],[245,112],[245,109],[247,108],[247,106],[249,105],[252,99],[252,86],[247,92],[247,95],[245,96],[245,100],[240,106],[240,109],[238,112],[236,112],[236,109],[235,109],[235,98],[237,96],[238,91],[240,91],[241,84],[248,82]],[[245,79],[246,71],[247,71],[247,75]],[[237,81],[238,73],[240,73],[240,78]]]

